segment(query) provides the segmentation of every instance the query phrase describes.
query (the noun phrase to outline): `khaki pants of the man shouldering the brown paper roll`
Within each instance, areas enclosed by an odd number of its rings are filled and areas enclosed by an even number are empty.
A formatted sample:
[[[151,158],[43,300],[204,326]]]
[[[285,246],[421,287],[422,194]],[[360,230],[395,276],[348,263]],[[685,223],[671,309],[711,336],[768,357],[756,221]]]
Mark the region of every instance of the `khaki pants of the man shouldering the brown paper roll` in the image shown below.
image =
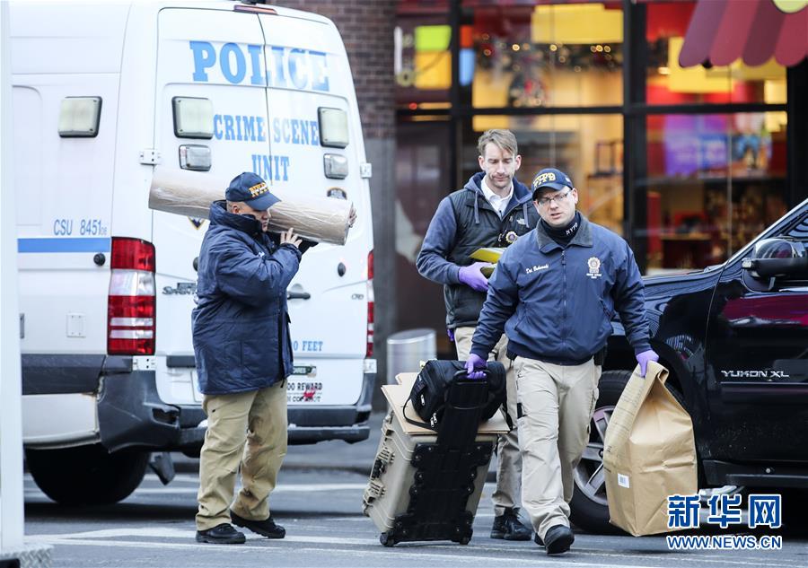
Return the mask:
[[[228,395],[206,395],[207,432],[199,461],[197,529],[269,517],[269,493],[286,455],[286,381]],[[241,466],[242,490],[233,502]]]

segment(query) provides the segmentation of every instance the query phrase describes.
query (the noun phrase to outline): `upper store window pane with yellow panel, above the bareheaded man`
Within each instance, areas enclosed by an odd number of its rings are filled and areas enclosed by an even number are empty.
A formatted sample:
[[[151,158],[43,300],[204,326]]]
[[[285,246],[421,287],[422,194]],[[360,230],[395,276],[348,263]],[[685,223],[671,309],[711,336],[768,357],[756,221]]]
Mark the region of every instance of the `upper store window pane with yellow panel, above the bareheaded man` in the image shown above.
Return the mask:
[[[472,105],[621,104],[621,3],[532,4],[463,2],[461,86]]]

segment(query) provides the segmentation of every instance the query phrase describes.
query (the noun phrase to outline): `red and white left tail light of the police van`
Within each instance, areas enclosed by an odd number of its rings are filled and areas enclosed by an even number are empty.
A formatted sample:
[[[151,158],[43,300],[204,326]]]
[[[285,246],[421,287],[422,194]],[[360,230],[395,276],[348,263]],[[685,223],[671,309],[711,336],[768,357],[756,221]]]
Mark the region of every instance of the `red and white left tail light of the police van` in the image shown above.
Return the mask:
[[[107,353],[153,355],[156,324],[154,245],[112,237]]]

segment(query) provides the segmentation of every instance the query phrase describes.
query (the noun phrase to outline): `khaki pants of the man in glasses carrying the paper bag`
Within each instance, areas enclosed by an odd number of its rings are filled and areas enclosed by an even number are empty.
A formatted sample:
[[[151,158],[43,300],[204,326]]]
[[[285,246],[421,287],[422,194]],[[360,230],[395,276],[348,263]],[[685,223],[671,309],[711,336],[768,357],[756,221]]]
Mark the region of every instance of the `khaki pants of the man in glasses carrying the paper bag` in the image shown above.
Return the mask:
[[[592,360],[567,366],[516,357],[514,368],[523,503],[544,538],[550,527],[569,526],[573,474],[589,442],[601,367]]]

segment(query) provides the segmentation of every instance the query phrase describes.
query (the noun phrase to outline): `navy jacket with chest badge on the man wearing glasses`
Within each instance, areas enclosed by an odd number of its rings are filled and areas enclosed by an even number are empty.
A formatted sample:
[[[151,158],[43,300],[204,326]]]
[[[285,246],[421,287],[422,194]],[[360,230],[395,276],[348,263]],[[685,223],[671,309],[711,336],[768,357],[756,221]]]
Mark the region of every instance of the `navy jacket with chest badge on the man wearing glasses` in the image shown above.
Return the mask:
[[[650,349],[643,281],[628,243],[582,215],[565,249],[539,224],[499,259],[471,353],[487,359],[504,328],[509,354],[584,363],[606,345],[615,310],[635,352]]]

